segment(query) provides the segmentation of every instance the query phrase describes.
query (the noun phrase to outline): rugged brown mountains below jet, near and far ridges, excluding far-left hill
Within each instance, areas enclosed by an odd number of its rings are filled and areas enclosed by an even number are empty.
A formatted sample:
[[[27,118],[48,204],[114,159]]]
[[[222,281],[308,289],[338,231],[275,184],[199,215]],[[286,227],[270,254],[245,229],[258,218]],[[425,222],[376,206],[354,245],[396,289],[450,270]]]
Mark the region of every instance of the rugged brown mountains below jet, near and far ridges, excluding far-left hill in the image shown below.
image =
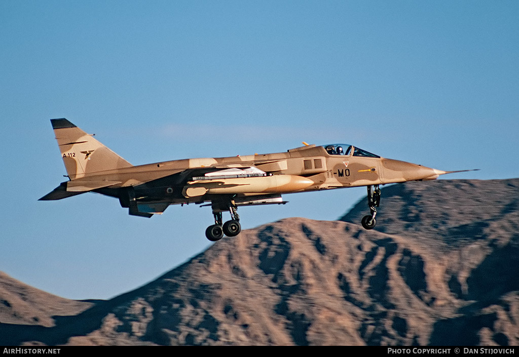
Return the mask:
[[[0,344],[517,345],[519,180],[382,195],[386,232],[284,219],[53,327],[0,324]]]

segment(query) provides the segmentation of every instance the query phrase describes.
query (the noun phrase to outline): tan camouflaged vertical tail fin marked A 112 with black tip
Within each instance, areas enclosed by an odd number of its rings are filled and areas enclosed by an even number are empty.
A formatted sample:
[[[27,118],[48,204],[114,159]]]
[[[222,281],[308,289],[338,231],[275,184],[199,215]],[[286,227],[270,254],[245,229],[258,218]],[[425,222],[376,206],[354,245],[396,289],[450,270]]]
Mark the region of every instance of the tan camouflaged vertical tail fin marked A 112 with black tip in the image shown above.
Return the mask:
[[[66,119],[50,119],[71,180],[94,172],[131,167],[132,164]]]

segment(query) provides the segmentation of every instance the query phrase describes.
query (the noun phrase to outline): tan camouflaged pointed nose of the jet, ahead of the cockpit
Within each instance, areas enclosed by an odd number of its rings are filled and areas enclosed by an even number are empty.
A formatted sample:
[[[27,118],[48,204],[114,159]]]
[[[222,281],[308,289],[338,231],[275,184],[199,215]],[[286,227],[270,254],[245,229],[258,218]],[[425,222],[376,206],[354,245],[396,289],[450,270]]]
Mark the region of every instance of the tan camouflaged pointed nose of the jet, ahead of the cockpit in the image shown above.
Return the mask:
[[[438,176],[445,174],[445,171],[431,169],[415,163],[383,159],[384,182],[405,182],[416,180],[436,180]]]

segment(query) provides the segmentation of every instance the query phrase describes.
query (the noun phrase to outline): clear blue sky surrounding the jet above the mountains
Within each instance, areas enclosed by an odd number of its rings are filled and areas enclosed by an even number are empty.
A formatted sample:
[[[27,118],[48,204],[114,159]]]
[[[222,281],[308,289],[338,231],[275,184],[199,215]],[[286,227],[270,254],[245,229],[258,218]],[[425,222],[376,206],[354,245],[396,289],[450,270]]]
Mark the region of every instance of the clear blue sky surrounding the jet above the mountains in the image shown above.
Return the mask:
[[[64,181],[51,118],[132,164],[342,142],[519,177],[518,18],[515,1],[0,1],[0,270],[110,298],[210,245],[209,208],[37,201]],[[336,219],[364,196],[287,195],[241,223]]]

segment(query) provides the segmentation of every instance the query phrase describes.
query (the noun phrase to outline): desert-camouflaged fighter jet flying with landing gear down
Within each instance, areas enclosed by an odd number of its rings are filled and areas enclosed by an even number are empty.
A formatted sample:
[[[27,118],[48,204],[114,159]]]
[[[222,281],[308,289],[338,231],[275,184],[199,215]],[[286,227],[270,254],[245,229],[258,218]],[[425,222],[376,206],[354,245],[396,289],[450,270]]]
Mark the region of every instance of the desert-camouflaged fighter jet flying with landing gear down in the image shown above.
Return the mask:
[[[362,218],[373,229],[380,204],[379,185],[435,180],[441,171],[380,157],[349,144],[308,145],[286,153],[222,158],[194,158],[133,166],[93,135],[67,119],[51,119],[65,164],[66,177],[40,200],[59,200],[86,192],[119,199],[130,215],[162,214],[170,204],[195,203],[212,208],[210,241],[241,231],[241,206],[284,204],[281,195],[345,187],[367,187],[370,214]],[[205,204],[204,204],[205,203]],[[230,220],[223,222],[222,213]]]

